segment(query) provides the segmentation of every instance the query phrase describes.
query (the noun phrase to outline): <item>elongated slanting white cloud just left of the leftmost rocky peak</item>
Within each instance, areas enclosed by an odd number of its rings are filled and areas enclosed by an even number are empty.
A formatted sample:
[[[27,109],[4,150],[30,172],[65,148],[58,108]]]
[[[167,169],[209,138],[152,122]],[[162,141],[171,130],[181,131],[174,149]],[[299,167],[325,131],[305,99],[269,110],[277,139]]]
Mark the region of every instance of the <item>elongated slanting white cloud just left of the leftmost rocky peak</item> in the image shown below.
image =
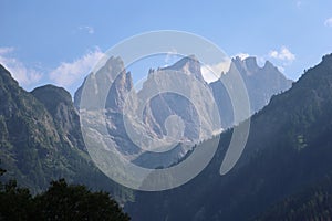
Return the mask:
[[[63,62],[49,74],[50,80],[59,86],[70,87],[83,80],[103,56],[104,53],[96,49],[73,62]]]

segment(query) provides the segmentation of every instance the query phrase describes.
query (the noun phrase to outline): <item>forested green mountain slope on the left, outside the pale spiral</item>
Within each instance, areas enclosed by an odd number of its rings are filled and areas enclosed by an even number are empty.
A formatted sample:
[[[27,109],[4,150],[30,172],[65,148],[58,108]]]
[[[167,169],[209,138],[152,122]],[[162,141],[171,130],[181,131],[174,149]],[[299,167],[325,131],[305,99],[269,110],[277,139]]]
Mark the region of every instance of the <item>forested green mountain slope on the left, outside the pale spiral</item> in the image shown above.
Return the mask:
[[[107,190],[120,201],[131,194],[91,160],[66,91],[45,85],[29,93],[0,65],[0,160],[8,170],[2,180],[15,179],[33,194],[59,178]]]

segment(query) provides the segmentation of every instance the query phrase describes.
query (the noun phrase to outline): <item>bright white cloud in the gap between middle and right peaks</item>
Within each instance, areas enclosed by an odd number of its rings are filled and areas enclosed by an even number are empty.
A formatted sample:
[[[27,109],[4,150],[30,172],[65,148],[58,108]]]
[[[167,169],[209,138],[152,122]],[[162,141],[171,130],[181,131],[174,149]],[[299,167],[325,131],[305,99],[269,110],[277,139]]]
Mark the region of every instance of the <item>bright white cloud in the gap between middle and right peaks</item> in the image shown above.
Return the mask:
[[[207,82],[215,82],[220,78],[221,73],[229,71],[231,60],[222,61],[218,64],[205,64],[200,67],[203,78]]]

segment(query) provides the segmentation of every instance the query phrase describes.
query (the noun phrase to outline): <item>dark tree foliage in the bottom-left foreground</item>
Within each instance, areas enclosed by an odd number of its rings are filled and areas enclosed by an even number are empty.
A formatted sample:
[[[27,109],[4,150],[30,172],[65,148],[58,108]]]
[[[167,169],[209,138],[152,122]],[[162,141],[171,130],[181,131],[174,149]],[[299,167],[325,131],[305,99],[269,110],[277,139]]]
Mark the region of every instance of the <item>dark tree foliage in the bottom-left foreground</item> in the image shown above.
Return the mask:
[[[0,170],[0,175],[3,172]],[[110,193],[92,192],[64,179],[52,181],[35,197],[14,180],[0,185],[0,220],[129,220]]]

